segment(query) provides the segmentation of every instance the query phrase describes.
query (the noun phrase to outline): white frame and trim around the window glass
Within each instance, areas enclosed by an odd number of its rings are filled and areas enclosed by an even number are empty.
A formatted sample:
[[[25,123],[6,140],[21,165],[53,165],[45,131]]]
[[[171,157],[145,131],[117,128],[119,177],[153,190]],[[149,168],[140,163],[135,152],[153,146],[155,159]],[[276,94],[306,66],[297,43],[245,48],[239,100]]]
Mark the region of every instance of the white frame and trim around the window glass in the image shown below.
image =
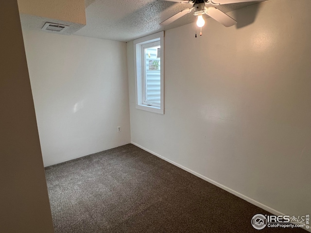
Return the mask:
[[[145,84],[145,68],[144,64],[144,51],[143,45],[155,41],[160,41],[160,105],[150,106],[144,101],[144,84]],[[136,108],[164,114],[164,32],[155,33],[139,39],[134,40],[134,66],[135,66],[135,95],[136,95]]]

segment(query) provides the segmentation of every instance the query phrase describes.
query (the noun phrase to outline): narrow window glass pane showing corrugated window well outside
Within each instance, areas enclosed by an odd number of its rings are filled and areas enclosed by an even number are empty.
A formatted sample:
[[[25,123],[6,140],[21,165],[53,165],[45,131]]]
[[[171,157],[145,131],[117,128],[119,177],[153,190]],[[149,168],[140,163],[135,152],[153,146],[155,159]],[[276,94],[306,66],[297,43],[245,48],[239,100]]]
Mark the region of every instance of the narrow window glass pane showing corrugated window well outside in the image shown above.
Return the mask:
[[[161,102],[160,46],[144,49],[145,56],[145,104],[159,106]]]

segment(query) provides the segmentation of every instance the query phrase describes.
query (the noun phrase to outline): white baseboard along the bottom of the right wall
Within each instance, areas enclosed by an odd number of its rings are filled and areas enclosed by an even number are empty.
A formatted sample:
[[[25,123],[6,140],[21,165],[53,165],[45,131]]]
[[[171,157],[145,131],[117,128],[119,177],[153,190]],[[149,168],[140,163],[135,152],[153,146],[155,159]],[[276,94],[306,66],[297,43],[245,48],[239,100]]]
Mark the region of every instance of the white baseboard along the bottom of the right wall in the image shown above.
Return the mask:
[[[224,189],[225,191],[227,191],[227,192],[229,192],[229,193],[231,193],[231,194],[233,194],[233,195],[235,195],[235,196],[237,196],[237,197],[239,197],[239,198],[242,198],[243,200],[246,200],[246,201],[249,202],[249,203],[252,203],[252,204],[258,206],[259,208],[264,209],[264,210],[266,210],[266,211],[272,213],[273,215],[276,215],[276,216],[284,215],[283,213],[281,213],[281,212],[279,212],[279,211],[277,211],[277,210],[275,210],[275,209],[273,209],[273,208],[271,208],[271,207],[269,207],[269,206],[266,206],[266,205],[264,205],[264,204],[258,202],[257,200],[254,200],[254,199],[251,199],[251,198],[249,198],[249,197],[246,197],[245,195],[243,195],[243,194],[241,194],[241,193],[239,193],[239,192],[237,192],[237,191],[235,191],[235,190],[233,190],[233,189],[231,189],[231,188],[228,188],[228,187],[226,187],[226,186],[223,185],[223,184],[220,184],[220,183],[218,183],[218,182],[216,182],[216,181],[213,181],[213,180],[207,178],[206,176],[203,176],[203,175],[201,175],[201,174],[199,174],[199,173],[197,173],[197,172],[195,172],[195,171],[192,171],[191,169],[189,169],[189,168],[187,168],[187,167],[185,167],[185,166],[182,166],[182,165],[180,165],[180,164],[177,164],[177,163],[175,163],[174,161],[172,161],[172,160],[170,160],[170,159],[167,159],[167,158],[165,158],[165,157],[163,157],[163,156],[161,156],[161,155],[155,153],[155,152],[152,151],[152,150],[148,150],[147,148],[144,148],[144,147],[140,146],[139,144],[137,144],[137,143],[135,143],[135,142],[131,142],[131,143],[132,143],[133,145],[139,147],[140,149],[146,150],[146,151],[148,151],[149,153],[151,153],[151,154],[153,154],[153,155],[155,155],[155,156],[157,156],[157,157],[159,157],[159,158],[161,158],[161,159],[163,159],[163,160],[169,162],[170,164],[173,164],[173,165],[175,165],[175,166],[178,166],[178,167],[180,167],[181,169],[183,169],[183,170],[185,170],[185,171],[188,171],[188,172],[190,172],[191,174],[193,174],[193,175],[195,175],[195,176],[197,176],[197,177],[200,177],[201,179],[203,179],[203,180],[205,180],[205,181],[207,181],[207,182],[209,182],[209,183],[212,183],[212,184],[216,185],[217,187],[220,187],[220,188]],[[260,213],[258,213],[258,214],[260,214]],[[303,228],[303,229],[306,230],[305,228]],[[311,229],[309,229],[309,230],[307,230],[307,231],[308,231],[308,232],[311,232]]]

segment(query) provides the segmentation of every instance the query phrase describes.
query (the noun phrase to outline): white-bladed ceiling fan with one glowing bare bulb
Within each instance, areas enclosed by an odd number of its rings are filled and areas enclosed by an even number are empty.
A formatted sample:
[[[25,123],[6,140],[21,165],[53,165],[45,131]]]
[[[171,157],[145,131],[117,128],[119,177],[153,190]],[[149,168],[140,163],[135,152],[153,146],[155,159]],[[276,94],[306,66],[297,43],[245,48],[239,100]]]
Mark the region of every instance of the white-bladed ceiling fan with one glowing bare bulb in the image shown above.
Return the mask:
[[[197,19],[197,26],[202,28],[205,24],[205,21],[202,15],[207,14],[209,17],[217,20],[225,27],[233,26],[237,23],[233,18],[222,12],[221,10],[217,9],[214,6],[223,5],[223,4],[230,4],[230,3],[238,3],[238,2],[247,2],[247,1],[258,1],[258,0],[166,0],[166,1],[173,1],[179,3],[186,3],[186,4],[193,4],[191,8],[184,9],[177,14],[173,15],[172,17],[164,20],[160,23],[160,25],[168,25],[175,21],[176,19],[187,15],[192,10],[194,10],[194,15],[198,17]],[[208,5],[214,5],[209,6]],[[202,34],[202,33],[201,33]]]

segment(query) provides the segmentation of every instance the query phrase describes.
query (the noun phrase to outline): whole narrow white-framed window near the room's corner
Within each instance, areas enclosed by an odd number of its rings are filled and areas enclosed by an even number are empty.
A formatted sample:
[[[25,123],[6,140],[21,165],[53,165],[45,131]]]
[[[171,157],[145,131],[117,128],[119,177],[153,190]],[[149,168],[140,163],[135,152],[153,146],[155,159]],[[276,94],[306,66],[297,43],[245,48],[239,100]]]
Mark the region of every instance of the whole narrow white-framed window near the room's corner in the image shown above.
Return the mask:
[[[136,108],[164,114],[164,32],[134,40]]]

